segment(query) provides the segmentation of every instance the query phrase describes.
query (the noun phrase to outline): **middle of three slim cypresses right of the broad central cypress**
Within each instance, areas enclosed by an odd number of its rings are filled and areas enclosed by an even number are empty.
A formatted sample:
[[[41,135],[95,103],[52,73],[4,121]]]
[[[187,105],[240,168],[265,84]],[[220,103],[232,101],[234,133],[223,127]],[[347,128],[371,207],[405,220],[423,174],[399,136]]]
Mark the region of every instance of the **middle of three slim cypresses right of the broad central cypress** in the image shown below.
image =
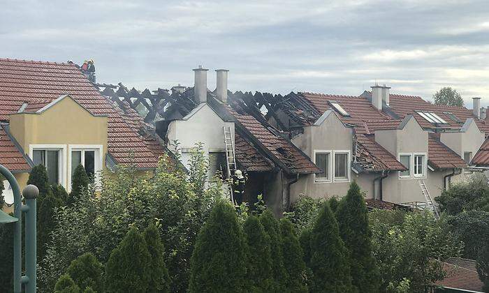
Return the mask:
[[[284,269],[284,257],[282,255],[282,239],[280,238],[279,222],[269,210],[260,215],[260,223],[265,228],[265,232],[270,237],[270,250],[272,253],[272,271],[273,271],[273,290],[274,292],[283,292],[285,290],[283,280],[286,278]]]

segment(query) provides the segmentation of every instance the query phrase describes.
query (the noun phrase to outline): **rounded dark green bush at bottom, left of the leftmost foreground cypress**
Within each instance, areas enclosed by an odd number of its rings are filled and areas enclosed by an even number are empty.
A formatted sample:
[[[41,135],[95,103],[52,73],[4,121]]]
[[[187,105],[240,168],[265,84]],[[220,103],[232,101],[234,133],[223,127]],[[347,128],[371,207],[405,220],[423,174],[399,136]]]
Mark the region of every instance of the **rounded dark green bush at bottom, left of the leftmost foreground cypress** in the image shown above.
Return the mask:
[[[73,260],[66,273],[82,290],[90,287],[94,292],[103,292],[102,264],[92,253],[84,253]]]

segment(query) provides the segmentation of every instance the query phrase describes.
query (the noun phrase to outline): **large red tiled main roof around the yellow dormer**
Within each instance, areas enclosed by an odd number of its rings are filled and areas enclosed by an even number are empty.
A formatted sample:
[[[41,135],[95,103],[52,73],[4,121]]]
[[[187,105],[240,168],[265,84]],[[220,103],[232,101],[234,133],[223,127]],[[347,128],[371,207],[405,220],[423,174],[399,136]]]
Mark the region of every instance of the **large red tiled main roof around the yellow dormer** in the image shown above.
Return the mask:
[[[95,89],[74,64],[0,59],[0,120],[20,110],[28,112],[69,94],[94,115],[108,116],[108,152],[117,163],[135,163],[141,169],[154,168],[158,158],[143,137]]]

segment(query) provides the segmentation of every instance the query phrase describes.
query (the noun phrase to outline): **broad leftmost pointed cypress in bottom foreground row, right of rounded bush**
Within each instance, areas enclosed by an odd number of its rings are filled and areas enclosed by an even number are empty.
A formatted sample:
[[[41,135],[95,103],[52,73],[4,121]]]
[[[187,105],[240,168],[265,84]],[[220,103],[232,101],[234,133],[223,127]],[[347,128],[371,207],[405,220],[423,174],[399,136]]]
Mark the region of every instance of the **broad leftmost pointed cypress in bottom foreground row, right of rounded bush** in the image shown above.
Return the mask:
[[[105,292],[147,292],[149,262],[143,235],[132,227],[119,246],[112,250],[105,266]]]

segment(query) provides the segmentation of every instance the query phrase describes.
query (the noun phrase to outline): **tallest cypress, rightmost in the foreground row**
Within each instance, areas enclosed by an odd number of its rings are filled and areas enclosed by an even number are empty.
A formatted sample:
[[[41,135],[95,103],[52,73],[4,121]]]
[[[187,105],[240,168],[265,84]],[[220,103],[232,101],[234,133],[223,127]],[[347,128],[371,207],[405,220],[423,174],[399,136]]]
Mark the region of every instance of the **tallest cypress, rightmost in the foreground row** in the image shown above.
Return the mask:
[[[353,181],[336,211],[340,236],[349,252],[351,283],[361,292],[379,292],[380,272],[372,255],[372,231],[360,187]]]

